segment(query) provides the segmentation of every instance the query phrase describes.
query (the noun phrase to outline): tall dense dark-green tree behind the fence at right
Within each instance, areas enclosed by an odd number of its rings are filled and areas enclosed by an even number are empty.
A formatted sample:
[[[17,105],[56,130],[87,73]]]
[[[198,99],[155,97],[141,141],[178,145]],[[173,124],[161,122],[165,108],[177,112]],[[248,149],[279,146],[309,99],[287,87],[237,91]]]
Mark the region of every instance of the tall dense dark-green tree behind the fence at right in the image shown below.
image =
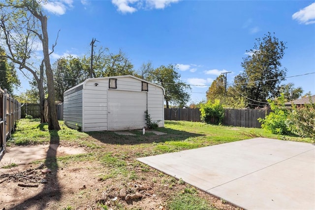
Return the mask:
[[[286,69],[281,68],[285,48],[283,41],[268,32],[247,51],[248,57],[242,62],[244,71],[234,78],[234,88],[247,97],[251,108],[264,106],[267,99],[278,96],[286,75]]]

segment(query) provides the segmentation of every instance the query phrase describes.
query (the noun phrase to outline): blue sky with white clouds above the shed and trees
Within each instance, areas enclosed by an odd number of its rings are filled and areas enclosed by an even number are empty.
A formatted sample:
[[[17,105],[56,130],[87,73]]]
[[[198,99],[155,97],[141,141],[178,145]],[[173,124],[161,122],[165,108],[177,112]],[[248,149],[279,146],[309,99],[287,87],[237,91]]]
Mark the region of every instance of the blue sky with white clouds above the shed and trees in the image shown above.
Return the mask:
[[[286,42],[287,76],[313,73],[284,84],[315,94],[315,1],[62,0],[44,8],[50,46],[61,30],[52,62],[89,53],[96,38],[96,50],[121,49],[135,70],[147,61],[178,64],[184,82],[205,85],[191,86],[190,102],[199,102],[220,73],[232,71],[227,82],[233,83],[246,50],[270,31]]]

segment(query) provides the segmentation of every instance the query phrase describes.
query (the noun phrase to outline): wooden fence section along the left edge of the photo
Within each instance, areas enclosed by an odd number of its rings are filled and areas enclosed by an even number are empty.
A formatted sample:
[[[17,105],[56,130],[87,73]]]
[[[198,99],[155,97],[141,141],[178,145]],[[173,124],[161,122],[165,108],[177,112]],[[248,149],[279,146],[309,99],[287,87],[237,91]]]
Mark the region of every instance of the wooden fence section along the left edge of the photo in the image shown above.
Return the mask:
[[[21,119],[21,104],[0,89],[0,159],[2,158],[6,139],[15,129],[15,122]]]

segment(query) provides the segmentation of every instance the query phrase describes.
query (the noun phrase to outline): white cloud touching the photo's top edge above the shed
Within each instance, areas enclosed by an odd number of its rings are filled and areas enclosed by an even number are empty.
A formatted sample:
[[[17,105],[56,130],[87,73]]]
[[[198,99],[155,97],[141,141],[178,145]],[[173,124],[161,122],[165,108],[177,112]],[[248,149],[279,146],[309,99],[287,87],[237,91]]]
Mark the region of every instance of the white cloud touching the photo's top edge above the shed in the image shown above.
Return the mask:
[[[164,9],[171,3],[176,3],[180,0],[112,0],[112,3],[117,6],[117,10],[122,13],[133,13],[138,9]]]

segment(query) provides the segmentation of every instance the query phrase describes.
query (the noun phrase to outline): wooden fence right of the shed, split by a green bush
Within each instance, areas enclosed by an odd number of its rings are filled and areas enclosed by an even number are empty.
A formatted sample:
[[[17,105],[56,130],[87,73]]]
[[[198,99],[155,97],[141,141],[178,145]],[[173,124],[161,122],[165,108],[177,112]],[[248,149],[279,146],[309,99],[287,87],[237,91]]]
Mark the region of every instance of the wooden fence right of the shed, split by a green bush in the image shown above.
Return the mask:
[[[265,118],[270,109],[225,109],[224,125],[260,128],[258,118]],[[186,120],[200,122],[200,111],[196,109],[170,108],[164,109],[164,120]]]

